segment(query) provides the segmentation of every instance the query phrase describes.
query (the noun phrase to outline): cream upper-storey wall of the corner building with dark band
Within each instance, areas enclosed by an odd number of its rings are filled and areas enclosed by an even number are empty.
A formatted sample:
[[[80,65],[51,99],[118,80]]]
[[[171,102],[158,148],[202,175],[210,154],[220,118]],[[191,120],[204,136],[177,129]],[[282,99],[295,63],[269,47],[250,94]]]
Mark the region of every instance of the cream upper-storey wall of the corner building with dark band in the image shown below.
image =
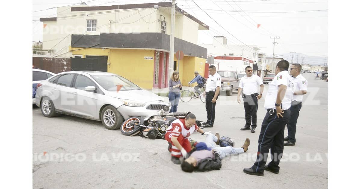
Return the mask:
[[[81,5],[87,6],[87,5]],[[79,5],[73,7],[81,7]],[[109,20],[111,20],[111,33],[144,33],[160,32],[160,20],[164,20],[166,34],[170,35],[170,7],[148,8],[148,9],[122,9],[122,10],[97,10],[97,11],[74,11],[70,7],[57,8],[57,21],[43,22],[43,48],[51,49],[55,46],[62,48],[70,46],[70,40],[62,41],[66,36],[71,38],[71,34],[99,35],[109,32]],[[93,14],[92,13],[101,13]],[[69,17],[74,15],[82,15]],[[163,15],[164,17],[161,17]],[[68,18],[65,18],[68,17]],[[184,19],[184,15],[176,13],[175,17],[175,37],[197,44],[199,24]],[[87,20],[96,20],[96,31],[87,31]],[[55,47],[56,48],[56,47]]]

